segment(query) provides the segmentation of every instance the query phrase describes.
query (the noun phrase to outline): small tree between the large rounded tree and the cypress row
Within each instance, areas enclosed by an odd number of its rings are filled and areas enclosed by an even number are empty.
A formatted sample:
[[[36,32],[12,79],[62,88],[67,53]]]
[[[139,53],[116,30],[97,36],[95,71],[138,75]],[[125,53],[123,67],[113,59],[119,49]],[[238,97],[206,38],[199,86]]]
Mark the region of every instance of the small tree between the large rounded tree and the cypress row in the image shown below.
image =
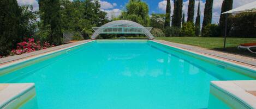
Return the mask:
[[[151,14],[150,27],[163,29],[165,14]]]

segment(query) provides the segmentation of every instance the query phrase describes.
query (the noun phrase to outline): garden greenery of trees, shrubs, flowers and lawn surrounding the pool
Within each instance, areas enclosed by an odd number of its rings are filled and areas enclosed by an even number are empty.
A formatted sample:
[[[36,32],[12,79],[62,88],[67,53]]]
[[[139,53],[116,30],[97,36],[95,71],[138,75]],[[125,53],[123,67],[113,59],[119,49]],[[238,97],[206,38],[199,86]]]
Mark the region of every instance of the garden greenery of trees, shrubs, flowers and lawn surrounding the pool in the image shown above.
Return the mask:
[[[199,2],[195,5],[195,2]],[[248,54],[236,47],[241,43],[256,42],[256,13],[228,14],[227,48],[223,47],[225,16],[221,15],[218,24],[212,24],[212,2],[206,0],[203,23],[201,23],[200,1],[189,0],[187,20],[182,10],[183,1],[176,0],[171,10],[167,0],[164,14],[149,14],[144,1],[129,0],[121,15],[107,17],[100,9],[99,1],[39,1],[39,10],[32,5],[18,5],[16,0],[0,2],[0,58],[30,53],[36,50],[63,44],[63,33],[71,32],[73,40],[87,40],[93,34],[92,27],[100,27],[115,20],[130,20],[144,27],[153,27],[151,33],[157,40],[190,44],[207,49],[229,53]],[[222,12],[232,9],[233,1],[224,0]],[[195,11],[195,7],[197,11]],[[173,12],[171,12],[173,11]],[[195,13],[197,12],[197,13]],[[173,13],[173,15],[171,15]],[[194,16],[195,20],[194,20]],[[79,37],[81,36],[81,37]],[[125,36],[132,39],[144,37],[139,34],[100,35],[99,39],[118,39]],[[249,54],[249,56],[254,56]]]

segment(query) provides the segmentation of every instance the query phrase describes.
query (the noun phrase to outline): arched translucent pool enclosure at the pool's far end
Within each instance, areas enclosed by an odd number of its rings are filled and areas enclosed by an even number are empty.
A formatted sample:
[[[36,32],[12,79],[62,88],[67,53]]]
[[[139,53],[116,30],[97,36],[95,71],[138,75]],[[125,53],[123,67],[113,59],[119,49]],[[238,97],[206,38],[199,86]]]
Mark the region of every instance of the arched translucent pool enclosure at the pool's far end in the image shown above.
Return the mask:
[[[91,36],[95,40],[99,34],[145,34],[149,40],[154,37],[150,33],[152,27],[144,27],[139,23],[127,20],[112,21],[102,25],[102,27],[93,27],[95,32]]]

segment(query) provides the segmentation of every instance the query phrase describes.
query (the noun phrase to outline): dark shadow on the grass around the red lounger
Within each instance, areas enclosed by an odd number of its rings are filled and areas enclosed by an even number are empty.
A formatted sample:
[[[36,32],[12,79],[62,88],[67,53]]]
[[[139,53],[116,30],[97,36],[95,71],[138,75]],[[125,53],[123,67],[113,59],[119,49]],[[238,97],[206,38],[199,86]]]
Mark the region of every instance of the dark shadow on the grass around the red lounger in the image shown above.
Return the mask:
[[[243,55],[248,57],[256,57],[256,54],[249,52],[248,50],[240,50],[237,49],[237,47],[228,47],[228,48],[213,48],[212,50],[217,50],[220,52],[230,53],[230,54],[237,54],[237,55]],[[254,50],[255,51],[255,50]]]

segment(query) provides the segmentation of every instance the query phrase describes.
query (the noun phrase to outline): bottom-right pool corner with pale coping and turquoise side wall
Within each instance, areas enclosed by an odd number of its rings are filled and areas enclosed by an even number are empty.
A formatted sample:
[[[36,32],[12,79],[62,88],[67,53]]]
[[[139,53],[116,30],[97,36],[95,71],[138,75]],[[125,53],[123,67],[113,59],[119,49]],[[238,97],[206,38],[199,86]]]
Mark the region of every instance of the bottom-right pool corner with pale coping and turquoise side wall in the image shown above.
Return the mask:
[[[209,108],[227,104],[230,108],[256,108],[256,81],[211,81]],[[218,100],[216,100],[218,99]]]

